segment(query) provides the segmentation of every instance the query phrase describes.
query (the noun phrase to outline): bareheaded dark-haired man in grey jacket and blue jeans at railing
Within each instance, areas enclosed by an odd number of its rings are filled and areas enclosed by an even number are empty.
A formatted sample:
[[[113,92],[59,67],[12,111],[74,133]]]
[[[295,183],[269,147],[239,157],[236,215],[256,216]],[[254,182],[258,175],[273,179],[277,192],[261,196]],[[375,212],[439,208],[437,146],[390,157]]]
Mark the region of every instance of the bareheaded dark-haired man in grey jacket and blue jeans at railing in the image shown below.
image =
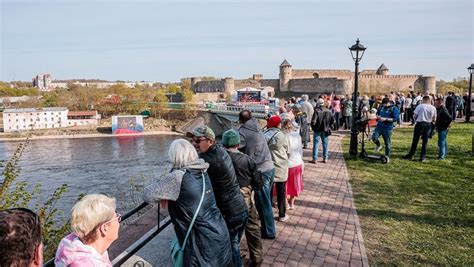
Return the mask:
[[[264,134],[260,131],[260,125],[252,118],[250,111],[241,111],[239,122],[241,123],[239,128],[239,150],[255,160],[258,170],[262,173],[262,189],[255,190],[255,205],[262,225],[262,238],[275,239],[276,230],[271,195],[273,180],[275,179],[275,166],[273,165],[270,149]]]

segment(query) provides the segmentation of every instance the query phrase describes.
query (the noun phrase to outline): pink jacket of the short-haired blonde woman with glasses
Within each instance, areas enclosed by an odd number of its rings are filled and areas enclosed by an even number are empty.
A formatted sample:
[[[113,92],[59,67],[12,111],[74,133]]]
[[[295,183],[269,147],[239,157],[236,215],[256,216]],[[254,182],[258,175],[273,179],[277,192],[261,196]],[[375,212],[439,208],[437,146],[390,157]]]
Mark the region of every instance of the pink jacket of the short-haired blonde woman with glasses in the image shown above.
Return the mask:
[[[69,234],[61,240],[54,264],[59,267],[112,267],[107,251],[100,255],[95,248],[82,243],[75,234]]]

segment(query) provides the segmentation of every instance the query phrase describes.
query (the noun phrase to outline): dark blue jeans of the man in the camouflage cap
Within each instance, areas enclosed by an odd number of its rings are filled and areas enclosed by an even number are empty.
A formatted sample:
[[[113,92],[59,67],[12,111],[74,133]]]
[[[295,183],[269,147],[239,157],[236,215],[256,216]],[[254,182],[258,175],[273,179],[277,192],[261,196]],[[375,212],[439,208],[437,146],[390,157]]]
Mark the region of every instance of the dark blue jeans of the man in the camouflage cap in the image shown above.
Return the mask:
[[[224,218],[227,224],[227,229],[229,230],[230,244],[232,246],[232,262],[234,263],[234,266],[242,266],[242,260],[240,258],[240,240],[242,239],[248,218],[248,211],[244,211],[239,215]]]

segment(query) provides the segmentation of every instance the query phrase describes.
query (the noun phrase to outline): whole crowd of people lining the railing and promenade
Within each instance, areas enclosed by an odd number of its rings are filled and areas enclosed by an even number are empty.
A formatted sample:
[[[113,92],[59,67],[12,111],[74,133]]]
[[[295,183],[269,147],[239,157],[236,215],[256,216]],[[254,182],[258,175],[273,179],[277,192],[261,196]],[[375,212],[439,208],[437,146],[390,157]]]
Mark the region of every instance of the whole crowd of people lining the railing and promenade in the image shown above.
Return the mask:
[[[438,132],[438,159],[447,155],[447,133],[456,116],[463,115],[459,96],[391,93],[357,98],[361,118],[377,121],[372,133],[375,150],[382,136],[385,155],[390,156],[393,128],[401,122],[415,124],[412,145],[403,158],[413,159],[422,139],[420,160],[426,158],[430,135]],[[309,163],[329,160],[328,139],[332,131],[350,129],[354,103],[346,96],[307,95],[291,98],[261,128],[249,110],[239,114],[240,127],[223,133],[198,126],[174,140],[169,148],[169,173],[144,188],[147,203],[167,207],[185,265],[242,266],[243,235],[249,249],[249,266],[263,260],[262,240],[275,239],[275,220],[291,220],[303,190],[303,150],[311,142]],[[460,114],[461,113],[461,114]],[[276,201],[275,201],[276,200]],[[274,216],[273,208],[277,210]],[[72,233],[57,249],[56,266],[112,266],[107,249],[118,238],[121,216],[115,199],[91,194],[71,210]],[[39,217],[24,208],[0,211],[0,266],[40,266],[42,238]]]

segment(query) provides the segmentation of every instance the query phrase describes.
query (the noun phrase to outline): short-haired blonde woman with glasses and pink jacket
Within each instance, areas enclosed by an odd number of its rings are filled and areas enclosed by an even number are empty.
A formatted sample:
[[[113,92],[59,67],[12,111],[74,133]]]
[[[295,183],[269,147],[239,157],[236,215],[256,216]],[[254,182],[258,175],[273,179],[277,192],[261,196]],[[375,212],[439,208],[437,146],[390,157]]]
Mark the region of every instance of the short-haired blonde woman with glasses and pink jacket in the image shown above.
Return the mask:
[[[121,216],[115,199],[83,197],[71,209],[72,233],[59,243],[55,266],[112,266],[107,249],[118,238]]]

